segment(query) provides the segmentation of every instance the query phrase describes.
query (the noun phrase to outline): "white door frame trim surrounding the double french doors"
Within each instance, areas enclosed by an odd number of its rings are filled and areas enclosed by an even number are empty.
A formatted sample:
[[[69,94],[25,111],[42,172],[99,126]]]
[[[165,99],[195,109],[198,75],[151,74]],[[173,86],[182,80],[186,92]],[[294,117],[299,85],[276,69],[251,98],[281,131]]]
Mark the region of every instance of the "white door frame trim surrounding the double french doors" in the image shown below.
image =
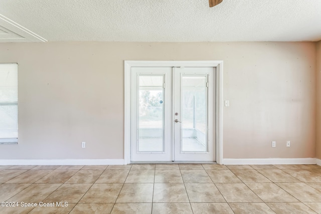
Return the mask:
[[[223,164],[223,61],[124,61],[124,164],[130,163],[131,67],[216,67],[216,162]]]

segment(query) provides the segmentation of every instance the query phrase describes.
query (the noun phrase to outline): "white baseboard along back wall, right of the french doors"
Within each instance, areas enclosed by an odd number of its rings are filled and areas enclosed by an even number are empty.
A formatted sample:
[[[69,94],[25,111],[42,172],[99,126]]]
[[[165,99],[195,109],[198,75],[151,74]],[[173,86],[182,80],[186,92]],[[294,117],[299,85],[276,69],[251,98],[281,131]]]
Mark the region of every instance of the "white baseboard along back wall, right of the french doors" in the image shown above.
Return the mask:
[[[319,162],[317,162],[317,160]],[[316,158],[224,158],[224,165],[321,164]]]

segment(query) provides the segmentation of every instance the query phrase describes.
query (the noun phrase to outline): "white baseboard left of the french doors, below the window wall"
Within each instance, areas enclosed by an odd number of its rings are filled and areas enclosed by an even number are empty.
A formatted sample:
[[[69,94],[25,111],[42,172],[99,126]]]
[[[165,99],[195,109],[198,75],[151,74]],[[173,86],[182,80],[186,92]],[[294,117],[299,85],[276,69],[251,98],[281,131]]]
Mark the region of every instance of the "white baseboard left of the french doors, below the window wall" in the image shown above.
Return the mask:
[[[0,165],[124,165],[124,159],[0,159]]]

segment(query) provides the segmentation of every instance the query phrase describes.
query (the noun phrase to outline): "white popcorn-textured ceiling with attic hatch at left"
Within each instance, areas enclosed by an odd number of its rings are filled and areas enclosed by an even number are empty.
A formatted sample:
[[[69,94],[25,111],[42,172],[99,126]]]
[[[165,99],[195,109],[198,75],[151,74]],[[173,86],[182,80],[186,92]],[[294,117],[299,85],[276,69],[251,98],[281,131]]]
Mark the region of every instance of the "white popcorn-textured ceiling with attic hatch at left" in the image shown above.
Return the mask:
[[[0,0],[0,42],[319,40],[321,0]]]

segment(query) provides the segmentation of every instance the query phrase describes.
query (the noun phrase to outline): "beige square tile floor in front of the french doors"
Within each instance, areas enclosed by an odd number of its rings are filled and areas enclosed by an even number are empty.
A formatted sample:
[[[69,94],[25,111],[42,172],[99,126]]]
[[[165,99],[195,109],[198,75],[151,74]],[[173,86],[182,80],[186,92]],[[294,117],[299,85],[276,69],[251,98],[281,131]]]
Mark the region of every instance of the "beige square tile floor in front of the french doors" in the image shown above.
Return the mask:
[[[321,166],[0,166],[1,201],[0,213],[321,213]]]

